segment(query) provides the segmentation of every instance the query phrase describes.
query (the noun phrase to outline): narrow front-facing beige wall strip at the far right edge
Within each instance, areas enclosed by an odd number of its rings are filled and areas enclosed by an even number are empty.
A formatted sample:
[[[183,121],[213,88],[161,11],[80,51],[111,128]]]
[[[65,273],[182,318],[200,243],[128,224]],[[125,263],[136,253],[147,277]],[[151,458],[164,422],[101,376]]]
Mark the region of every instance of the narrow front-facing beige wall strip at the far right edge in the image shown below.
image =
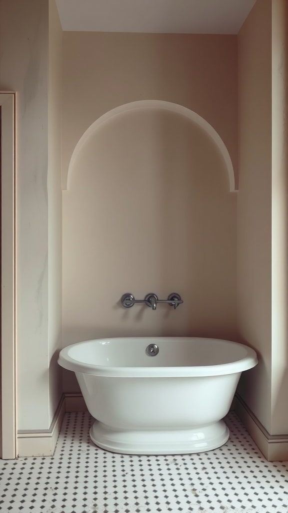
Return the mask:
[[[288,433],[288,4],[272,2],[272,410]]]

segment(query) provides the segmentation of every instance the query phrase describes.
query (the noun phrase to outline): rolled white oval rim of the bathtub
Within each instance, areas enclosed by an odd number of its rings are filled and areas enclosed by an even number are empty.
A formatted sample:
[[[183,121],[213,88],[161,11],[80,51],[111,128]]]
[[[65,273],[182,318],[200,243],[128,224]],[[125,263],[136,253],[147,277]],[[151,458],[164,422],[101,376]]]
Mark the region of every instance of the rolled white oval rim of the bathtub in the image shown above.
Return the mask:
[[[164,339],[206,339],[217,341],[229,342],[232,345],[241,346],[246,350],[246,355],[240,360],[234,362],[205,365],[205,366],[161,366],[161,367],[111,367],[103,365],[94,365],[79,362],[69,356],[69,350],[75,345],[85,344],[93,341],[108,341],[108,340],[123,340],[123,339],[149,339],[152,341]],[[258,363],[257,353],[252,347],[239,342],[234,342],[225,339],[215,339],[210,337],[107,337],[100,339],[89,339],[75,344],[70,344],[61,349],[58,357],[58,364],[73,372],[80,372],[83,374],[90,374],[92,376],[110,377],[110,378],[168,378],[168,377],[208,377],[208,376],[223,376],[225,374],[234,374],[249,370],[255,367]]]

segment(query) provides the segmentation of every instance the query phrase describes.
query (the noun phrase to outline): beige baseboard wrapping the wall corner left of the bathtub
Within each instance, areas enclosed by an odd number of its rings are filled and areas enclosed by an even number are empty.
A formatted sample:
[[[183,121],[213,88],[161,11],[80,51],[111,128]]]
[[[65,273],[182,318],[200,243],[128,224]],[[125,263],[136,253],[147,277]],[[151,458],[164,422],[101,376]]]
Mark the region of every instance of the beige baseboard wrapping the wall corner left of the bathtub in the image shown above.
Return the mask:
[[[53,456],[65,412],[65,396],[63,394],[49,429],[19,430],[17,435],[18,456]]]

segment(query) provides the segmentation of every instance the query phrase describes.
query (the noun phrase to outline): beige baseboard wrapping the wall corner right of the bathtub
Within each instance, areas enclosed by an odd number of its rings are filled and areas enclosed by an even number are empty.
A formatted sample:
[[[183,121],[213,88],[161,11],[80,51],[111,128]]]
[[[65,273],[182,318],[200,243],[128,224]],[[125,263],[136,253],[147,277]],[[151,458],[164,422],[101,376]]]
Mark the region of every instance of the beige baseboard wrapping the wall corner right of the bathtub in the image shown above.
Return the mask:
[[[238,394],[234,398],[234,408],[266,460],[288,460],[288,435],[270,435]]]

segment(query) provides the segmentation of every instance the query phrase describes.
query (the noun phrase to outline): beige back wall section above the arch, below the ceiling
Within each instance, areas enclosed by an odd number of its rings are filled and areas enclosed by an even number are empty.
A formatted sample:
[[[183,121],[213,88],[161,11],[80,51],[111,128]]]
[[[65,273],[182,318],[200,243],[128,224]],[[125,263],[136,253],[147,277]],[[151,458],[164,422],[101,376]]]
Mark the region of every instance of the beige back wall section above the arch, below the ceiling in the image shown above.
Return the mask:
[[[109,110],[165,100],[202,116],[219,133],[236,172],[237,36],[64,32],[63,188],[72,152]]]

